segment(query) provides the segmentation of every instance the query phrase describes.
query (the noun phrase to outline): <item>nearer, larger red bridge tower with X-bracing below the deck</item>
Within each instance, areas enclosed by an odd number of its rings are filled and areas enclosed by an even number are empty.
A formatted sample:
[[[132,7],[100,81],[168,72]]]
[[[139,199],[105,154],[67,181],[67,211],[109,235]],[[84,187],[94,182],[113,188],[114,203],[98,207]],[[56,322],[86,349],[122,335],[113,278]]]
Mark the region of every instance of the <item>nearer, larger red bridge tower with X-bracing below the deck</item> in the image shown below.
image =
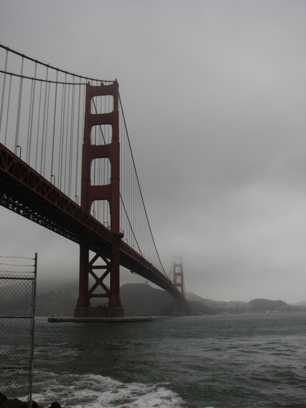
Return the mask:
[[[80,284],[77,308],[74,317],[123,317],[123,308],[120,299],[119,267],[120,241],[123,234],[120,232],[120,144],[119,144],[119,92],[118,83],[110,85],[86,86],[84,140],[82,157],[82,192],[81,207],[90,214],[95,200],[107,200],[111,218],[111,232],[113,242],[111,251],[98,251],[90,260],[89,242],[80,244]],[[109,113],[91,113],[92,99],[97,96],[113,97],[113,111]],[[92,127],[110,125],[112,127],[112,141],[109,144],[92,144]],[[111,166],[111,180],[107,185],[92,185],[91,166],[95,159],[109,159]],[[106,255],[111,252],[110,256]],[[102,260],[100,265],[96,261]],[[98,270],[101,270],[99,276]],[[104,279],[110,276],[110,288],[104,284]],[[94,284],[89,287],[89,277]],[[101,293],[94,293],[96,289]],[[93,297],[108,298],[107,308],[90,307]]]

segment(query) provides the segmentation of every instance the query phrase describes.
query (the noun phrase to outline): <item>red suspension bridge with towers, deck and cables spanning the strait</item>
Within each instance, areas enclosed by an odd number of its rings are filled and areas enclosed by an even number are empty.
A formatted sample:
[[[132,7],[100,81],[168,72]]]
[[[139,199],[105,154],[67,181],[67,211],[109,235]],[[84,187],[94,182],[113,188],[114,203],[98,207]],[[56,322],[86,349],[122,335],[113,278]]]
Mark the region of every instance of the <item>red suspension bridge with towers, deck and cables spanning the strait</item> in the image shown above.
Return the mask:
[[[170,293],[152,236],[117,80],[67,72],[0,45],[0,205],[80,245],[74,317],[123,317],[120,265]],[[107,298],[107,308],[91,305]]]

